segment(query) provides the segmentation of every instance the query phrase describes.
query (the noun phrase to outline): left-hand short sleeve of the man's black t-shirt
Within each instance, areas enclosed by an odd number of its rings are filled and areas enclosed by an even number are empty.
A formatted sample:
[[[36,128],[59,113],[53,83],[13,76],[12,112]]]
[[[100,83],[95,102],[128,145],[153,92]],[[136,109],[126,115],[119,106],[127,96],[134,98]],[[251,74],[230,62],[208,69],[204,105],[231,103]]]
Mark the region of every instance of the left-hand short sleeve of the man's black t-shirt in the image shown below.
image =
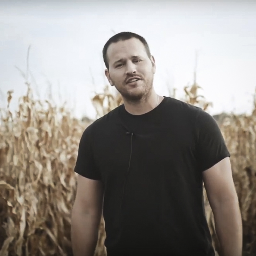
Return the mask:
[[[91,125],[83,132],[78,146],[78,154],[74,171],[91,180],[101,180],[92,152]]]

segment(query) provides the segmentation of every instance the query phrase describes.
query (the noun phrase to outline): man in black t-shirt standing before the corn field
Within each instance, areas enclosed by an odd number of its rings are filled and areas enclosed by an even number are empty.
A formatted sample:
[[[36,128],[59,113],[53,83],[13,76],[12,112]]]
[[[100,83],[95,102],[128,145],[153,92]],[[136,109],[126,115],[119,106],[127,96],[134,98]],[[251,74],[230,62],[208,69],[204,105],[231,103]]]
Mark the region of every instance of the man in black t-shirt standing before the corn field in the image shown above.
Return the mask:
[[[155,60],[143,37],[111,37],[103,59],[124,104],[87,127],[79,144],[74,256],[93,255],[102,207],[108,256],[215,255],[203,181],[223,256],[241,256],[230,155],[215,120],[201,108],[156,94]]]

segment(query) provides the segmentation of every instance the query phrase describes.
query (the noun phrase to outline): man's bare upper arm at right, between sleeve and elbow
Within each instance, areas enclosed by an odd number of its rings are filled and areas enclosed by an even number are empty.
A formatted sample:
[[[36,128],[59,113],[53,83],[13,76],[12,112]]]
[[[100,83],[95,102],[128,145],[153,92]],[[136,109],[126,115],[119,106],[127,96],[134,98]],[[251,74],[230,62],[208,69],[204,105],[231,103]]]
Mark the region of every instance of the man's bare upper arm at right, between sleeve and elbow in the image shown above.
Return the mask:
[[[212,209],[237,198],[229,157],[225,157],[203,173],[204,187]]]

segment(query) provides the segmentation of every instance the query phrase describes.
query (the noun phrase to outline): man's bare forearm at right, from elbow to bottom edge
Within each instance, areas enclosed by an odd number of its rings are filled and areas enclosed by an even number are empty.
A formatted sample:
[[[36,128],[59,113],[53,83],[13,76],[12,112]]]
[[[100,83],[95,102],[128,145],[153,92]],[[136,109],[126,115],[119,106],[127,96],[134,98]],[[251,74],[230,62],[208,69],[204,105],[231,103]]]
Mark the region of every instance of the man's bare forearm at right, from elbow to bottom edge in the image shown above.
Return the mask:
[[[237,200],[219,204],[213,215],[223,256],[242,256],[243,230]]]

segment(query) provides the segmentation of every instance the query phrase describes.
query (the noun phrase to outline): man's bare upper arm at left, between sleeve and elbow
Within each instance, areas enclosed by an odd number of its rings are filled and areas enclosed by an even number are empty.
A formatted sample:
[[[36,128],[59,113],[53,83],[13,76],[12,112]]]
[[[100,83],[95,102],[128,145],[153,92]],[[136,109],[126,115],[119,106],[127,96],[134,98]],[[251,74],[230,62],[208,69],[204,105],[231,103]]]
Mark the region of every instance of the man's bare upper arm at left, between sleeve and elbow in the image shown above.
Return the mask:
[[[81,213],[100,216],[102,212],[103,186],[100,180],[92,180],[78,174],[74,207]]]

